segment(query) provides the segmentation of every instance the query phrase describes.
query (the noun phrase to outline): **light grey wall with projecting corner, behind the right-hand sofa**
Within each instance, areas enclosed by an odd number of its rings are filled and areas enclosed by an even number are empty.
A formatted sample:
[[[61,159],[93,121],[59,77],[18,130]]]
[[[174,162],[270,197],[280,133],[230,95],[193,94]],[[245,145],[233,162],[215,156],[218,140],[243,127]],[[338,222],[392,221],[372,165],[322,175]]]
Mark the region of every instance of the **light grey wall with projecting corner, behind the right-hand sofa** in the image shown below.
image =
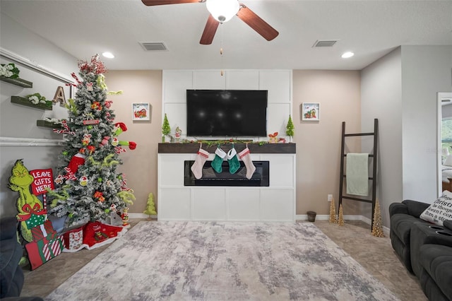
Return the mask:
[[[437,93],[452,91],[452,46],[402,46],[362,70],[363,127],[380,122],[378,196],[388,207],[437,196]]]

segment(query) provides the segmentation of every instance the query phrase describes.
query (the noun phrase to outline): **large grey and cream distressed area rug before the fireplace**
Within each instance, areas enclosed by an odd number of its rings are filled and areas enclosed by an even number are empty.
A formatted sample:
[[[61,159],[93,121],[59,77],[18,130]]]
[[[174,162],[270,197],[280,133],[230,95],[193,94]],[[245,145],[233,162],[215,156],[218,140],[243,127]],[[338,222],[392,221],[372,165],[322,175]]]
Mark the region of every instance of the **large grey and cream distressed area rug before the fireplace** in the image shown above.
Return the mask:
[[[140,222],[46,300],[398,300],[312,223]]]

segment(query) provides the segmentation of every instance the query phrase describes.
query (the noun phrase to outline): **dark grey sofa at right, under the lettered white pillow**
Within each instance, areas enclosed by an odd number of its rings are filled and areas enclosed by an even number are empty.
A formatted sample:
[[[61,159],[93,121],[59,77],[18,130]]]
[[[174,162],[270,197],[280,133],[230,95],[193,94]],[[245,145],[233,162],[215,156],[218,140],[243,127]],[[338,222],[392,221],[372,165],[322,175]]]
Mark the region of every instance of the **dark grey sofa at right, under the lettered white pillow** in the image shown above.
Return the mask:
[[[420,219],[429,205],[405,200],[389,206],[391,244],[429,300],[451,301],[452,220],[439,226]]]

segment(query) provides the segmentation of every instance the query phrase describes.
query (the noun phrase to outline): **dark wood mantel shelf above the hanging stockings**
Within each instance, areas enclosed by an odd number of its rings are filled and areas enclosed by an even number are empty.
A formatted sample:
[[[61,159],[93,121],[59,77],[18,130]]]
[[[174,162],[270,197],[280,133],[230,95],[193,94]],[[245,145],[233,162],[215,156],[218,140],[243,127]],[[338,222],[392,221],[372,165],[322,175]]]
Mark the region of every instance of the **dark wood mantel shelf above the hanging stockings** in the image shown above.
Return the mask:
[[[158,153],[196,153],[199,149],[199,143],[158,143]],[[245,143],[234,143],[237,153],[244,150]],[[208,146],[203,144],[203,149],[209,153],[215,153],[217,145]],[[232,143],[222,143],[220,148],[227,152],[232,148]],[[251,153],[296,153],[295,143],[248,143]]]

